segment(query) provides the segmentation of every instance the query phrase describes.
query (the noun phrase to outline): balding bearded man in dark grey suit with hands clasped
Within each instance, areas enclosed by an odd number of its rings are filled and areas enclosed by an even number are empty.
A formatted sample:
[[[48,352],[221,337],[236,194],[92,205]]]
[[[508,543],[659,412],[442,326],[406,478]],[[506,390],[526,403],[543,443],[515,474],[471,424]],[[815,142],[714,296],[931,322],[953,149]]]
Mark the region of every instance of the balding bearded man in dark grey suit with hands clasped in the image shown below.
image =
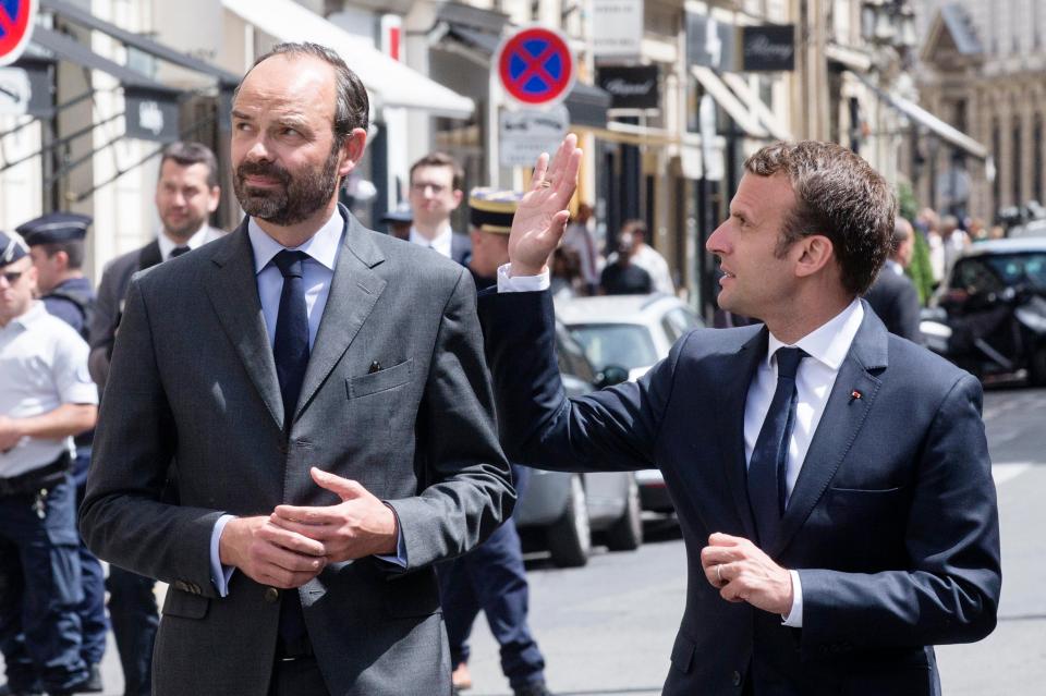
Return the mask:
[[[431,565],[514,493],[467,270],[338,206],[367,112],[333,51],[260,58],[232,112],[248,217],[131,282],[81,528],[171,585],[159,696],[450,694]]]

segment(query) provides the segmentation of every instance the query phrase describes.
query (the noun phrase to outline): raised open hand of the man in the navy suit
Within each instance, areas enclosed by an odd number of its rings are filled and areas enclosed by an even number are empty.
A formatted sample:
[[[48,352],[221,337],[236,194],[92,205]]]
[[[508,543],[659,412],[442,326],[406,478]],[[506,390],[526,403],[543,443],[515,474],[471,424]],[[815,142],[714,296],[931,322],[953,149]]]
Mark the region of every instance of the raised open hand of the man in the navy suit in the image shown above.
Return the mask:
[[[538,276],[548,265],[567,229],[570,204],[577,188],[581,150],[577,136],[569,134],[560,143],[551,163],[543,152],[534,167],[531,190],[520,200],[509,235],[512,276]]]

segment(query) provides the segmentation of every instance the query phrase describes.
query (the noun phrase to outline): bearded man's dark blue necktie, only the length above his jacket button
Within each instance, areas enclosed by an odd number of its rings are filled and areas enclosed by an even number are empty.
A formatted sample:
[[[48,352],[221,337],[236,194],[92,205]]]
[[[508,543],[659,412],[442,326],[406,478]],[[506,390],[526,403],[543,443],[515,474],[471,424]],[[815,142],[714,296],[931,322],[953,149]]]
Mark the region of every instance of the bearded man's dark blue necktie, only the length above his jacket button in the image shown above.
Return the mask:
[[[305,252],[283,249],[272,259],[283,273],[283,291],[280,293],[280,313],[276,319],[276,341],[272,357],[276,358],[276,376],[283,394],[283,430],[290,432],[302,392],[305,368],[308,366],[308,314],[305,310],[305,283],[302,266],[308,258]]]

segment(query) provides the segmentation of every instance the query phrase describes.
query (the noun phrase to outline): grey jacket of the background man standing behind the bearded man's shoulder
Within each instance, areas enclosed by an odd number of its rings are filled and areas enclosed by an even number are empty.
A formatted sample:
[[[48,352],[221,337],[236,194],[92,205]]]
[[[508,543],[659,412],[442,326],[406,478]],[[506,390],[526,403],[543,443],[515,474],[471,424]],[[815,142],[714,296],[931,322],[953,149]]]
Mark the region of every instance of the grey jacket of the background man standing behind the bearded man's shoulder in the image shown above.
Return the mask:
[[[208,227],[204,236],[205,243],[214,242],[224,234],[224,230]],[[131,277],[139,270],[160,264],[162,260],[160,245],[156,240],[153,240],[142,248],[127,252],[112,259],[102,270],[101,282],[98,283],[98,298],[92,315],[88,333],[90,335],[88,367],[90,368],[90,377],[98,384],[98,389],[105,389],[106,387],[106,378],[109,375],[109,356],[112,355],[112,343],[117,335],[117,327],[120,326],[123,301],[127,297]]]

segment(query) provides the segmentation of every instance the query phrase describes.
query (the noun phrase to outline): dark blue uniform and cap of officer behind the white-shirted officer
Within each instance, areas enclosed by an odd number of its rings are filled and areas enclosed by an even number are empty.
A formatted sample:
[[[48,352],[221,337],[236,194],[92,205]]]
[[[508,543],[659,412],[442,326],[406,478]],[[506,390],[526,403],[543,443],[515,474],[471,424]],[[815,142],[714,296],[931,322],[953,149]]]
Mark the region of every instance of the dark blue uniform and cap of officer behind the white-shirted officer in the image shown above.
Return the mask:
[[[44,244],[83,244],[92,218],[75,212],[51,212],[16,228],[29,248]],[[95,312],[95,290],[84,277],[69,278],[51,288],[40,297],[48,314],[71,326],[84,341],[90,341],[90,322]],[[73,483],[76,486],[76,508],[84,500],[87,469],[90,466],[90,447],[94,430],[75,438]],[[106,575],[101,563],[80,539],[80,570],[84,601],[78,609],[83,640],[81,654],[92,672],[93,686],[101,689],[99,663],[106,654],[109,620],[106,618]]]

